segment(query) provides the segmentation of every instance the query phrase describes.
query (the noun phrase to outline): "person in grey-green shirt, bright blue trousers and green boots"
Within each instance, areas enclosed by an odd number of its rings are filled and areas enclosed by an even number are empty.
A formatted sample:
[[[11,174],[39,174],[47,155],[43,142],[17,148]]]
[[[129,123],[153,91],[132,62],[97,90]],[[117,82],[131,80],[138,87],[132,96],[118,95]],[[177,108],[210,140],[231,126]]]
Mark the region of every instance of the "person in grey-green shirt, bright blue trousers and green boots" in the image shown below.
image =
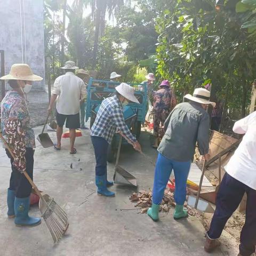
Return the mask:
[[[175,175],[174,199],[176,207],[174,219],[187,217],[183,209],[187,194],[187,178],[194,157],[196,142],[201,155],[207,161],[209,151],[210,118],[206,107],[210,101],[210,92],[206,89],[195,89],[194,94],[187,94],[189,102],[177,105],[164,123],[165,134],[158,147],[158,158],[155,168],[153,204],[148,215],[154,221],[158,220],[159,204],[161,204],[164,189],[169,181],[172,170]]]

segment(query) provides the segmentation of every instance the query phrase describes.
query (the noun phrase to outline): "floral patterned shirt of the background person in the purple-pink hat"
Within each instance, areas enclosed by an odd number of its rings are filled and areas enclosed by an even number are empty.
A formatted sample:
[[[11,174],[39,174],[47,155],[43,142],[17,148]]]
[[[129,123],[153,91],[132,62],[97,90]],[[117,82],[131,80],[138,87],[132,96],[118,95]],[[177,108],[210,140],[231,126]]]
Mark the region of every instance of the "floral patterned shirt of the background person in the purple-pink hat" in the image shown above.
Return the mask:
[[[173,90],[170,88],[161,88],[153,93],[153,110],[155,113],[159,113],[163,110],[171,112],[172,109],[177,105],[177,99]]]

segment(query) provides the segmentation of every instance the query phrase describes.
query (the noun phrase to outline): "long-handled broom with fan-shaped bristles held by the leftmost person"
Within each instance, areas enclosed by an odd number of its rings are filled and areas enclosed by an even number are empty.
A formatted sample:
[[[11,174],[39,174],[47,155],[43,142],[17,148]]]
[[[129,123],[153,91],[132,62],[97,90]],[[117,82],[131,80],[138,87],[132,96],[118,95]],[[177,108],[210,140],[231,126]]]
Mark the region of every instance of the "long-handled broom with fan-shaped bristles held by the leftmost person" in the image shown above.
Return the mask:
[[[3,141],[4,145],[10,152],[12,158],[15,158],[12,149],[4,139],[3,135],[0,133],[0,139]],[[40,197],[39,201],[39,210],[42,214],[42,217],[49,229],[53,241],[58,242],[62,236],[66,233],[68,229],[68,217],[65,211],[61,209],[61,207],[54,201],[52,197],[47,194],[42,195],[41,192],[36,187],[35,183],[29,177],[28,173],[23,172],[31,186],[36,191],[36,194]]]

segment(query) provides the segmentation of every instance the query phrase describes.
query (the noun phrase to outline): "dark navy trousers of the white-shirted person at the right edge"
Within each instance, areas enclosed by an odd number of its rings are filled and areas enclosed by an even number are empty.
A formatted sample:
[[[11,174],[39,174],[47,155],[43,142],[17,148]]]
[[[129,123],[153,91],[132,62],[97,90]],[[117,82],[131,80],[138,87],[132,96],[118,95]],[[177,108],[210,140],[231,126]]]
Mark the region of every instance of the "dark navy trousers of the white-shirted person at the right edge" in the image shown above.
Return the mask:
[[[221,236],[228,219],[241,203],[244,193],[247,194],[246,217],[241,231],[239,251],[243,256],[250,256],[255,252],[256,246],[256,190],[231,177],[228,173],[221,181],[216,210],[207,234],[212,239]]]

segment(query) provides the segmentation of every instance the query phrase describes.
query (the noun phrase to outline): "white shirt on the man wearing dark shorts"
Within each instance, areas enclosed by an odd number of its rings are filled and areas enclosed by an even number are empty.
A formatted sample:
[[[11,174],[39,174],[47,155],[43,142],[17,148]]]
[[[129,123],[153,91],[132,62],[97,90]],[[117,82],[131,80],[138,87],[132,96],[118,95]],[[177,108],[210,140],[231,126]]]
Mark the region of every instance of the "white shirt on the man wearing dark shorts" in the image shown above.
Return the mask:
[[[55,79],[52,94],[57,94],[57,111],[62,115],[75,115],[80,111],[80,99],[86,98],[86,87],[72,72]]]

